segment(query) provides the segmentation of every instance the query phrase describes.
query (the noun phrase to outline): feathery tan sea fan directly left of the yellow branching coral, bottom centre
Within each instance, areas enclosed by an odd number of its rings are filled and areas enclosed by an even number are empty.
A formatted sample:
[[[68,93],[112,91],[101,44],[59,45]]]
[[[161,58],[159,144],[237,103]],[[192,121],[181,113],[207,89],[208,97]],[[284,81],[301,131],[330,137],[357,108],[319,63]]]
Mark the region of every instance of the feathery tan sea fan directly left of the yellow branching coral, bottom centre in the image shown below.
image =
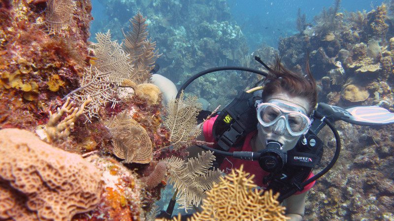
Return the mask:
[[[213,152],[206,151],[198,154],[197,158],[189,159],[187,163],[177,157],[161,161],[167,164],[168,182],[178,190],[177,202],[180,208],[187,211],[192,205],[198,206],[205,196],[204,192],[220,180],[222,171],[210,169],[214,160]]]

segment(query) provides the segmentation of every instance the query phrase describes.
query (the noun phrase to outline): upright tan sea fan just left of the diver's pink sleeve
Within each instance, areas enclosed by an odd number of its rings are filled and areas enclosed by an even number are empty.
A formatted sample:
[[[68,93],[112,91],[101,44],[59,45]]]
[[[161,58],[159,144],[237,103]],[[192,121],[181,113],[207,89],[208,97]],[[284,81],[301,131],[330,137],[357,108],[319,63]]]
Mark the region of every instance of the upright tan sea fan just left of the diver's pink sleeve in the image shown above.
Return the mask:
[[[175,149],[190,146],[201,133],[197,128],[197,115],[201,109],[202,104],[197,97],[191,96],[184,100],[183,91],[179,98],[168,102],[164,126],[170,131],[171,145]]]

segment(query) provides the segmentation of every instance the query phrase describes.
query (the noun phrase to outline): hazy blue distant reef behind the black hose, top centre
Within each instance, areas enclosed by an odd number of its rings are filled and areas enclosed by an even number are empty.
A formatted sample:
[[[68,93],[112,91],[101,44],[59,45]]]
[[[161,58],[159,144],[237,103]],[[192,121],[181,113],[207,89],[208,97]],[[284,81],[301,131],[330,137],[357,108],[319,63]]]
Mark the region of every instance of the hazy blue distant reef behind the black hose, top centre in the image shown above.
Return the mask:
[[[106,15],[111,22],[94,29],[96,32],[106,31],[109,28],[112,30],[112,27],[126,28],[129,24],[125,18],[126,9],[133,13],[137,13],[137,10],[142,11],[148,17],[147,24],[151,37],[160,45],[163,52],[157,60],[160,65],[159,74],[170,79],[178,87],[200,70],[225,64],[237,65],[239,59],[248,52],[246,39],[241,28],[231,19],[230,7],[225,0],[209,2],[100,0],[100,2],[105,7]],[[122,39],[121,29],[113,30],[113,36],[115,39]],[[246,81],[248,75],[239,75],[230,71],[216,76],[204,77],[190,87],[193,94],[207,101],[206,106],[209,110],[228,103],[233,95],[250,82]],[[239,82],[245,80],[246,83],[235,88],[226,83],[234,79],[241,79]],[[217,94],[213,94],[212,91]],[[219,94],[222,98],[218,100]]]

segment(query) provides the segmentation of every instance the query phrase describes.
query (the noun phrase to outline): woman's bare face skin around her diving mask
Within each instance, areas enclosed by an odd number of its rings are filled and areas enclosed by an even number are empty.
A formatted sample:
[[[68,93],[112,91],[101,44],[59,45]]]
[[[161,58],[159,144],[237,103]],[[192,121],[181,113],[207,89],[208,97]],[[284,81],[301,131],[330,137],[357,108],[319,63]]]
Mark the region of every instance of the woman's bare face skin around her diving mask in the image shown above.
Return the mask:
[[[266,100],[266,103],[269,102],[280,102],[283,104],[281,107],[285,111],[301,111],[303,114],[307,115],[310,111],[308,109],[309,103],[303,97],[290,97],[286,93],[279,93],[272,95]],[[285,128],[285,119],[279,119],[279,121],[272,126],[263,127],[259,125],[258,129],[258,139],[257,143],[254,146],[254,151],[263,150],[266,147],[267,140],[274,140],[283,144],[282,151],[288,151],[293,149],[296,146],[298,139],[302,136],[291,136],[287,129]]]

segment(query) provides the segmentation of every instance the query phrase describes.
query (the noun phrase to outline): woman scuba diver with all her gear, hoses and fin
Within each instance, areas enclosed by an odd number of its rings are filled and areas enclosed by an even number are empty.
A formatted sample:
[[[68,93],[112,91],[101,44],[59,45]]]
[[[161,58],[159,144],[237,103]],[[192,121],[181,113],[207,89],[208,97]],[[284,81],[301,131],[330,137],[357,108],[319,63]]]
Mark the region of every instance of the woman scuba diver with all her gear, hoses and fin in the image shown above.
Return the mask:
[[[214,145],[189,147],[189,157],[197,156],[202,150],[213,151],[216,156],[214,166],[225,173],[244,165],[244,171],[255,174],[254,182],[259,187],[280,193],[278,200],[286,207],[286,216],[291,221],[299,221],[304,216],[307,191],[339,157],[340,137],[333,122],[387,125],[394,123],[394,114],[378,106],[345,110],[318,104],[316,83],[308,59],[305,76],[286,69],[279,58],[273,69],[259,57],[255,59],[268,70],[268,74],[246,67],[218,67],[198,73],[181,86],[180,91],[198,77],[222,70],[241,70],[265,76],[263,86],[240,92],[222,111],[199,125],[202,133],[198,139]],[[197,118],[202,120],[210,113],[201,111]],[[314,174],[312,169],[323,156],[323,141],[317,134],[326,125],[336,140],[335,153],[329,164]],[[173,197],[159,217],[170,218],[174,205]]]

